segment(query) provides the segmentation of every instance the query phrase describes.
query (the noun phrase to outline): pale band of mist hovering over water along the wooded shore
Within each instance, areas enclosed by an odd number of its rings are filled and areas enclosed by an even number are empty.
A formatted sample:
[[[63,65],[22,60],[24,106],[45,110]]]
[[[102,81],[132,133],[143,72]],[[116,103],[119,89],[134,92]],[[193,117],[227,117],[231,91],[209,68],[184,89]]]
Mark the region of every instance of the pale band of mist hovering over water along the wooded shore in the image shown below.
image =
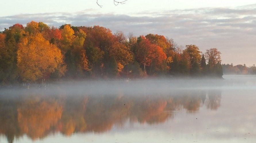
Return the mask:
[[[80,82],[56,82],[46,86],[24,86],[22,88],[1,88],[1,95],[23,95],[28,92],[44,90],[44,95],[63,93],[75,95],[115,95],[122,92],[126,96],[140,94],[169,94],[179,90],[225,90],[225,89],[254,89],[255,76],[223,76],[224,79],[144,79],[144,80],[102,80]]]

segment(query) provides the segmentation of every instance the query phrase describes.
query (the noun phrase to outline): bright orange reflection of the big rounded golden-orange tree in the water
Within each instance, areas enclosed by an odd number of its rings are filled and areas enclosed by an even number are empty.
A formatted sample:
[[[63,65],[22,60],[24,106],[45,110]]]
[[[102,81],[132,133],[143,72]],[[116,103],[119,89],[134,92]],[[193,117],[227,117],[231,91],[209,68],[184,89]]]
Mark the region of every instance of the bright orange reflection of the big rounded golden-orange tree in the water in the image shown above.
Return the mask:
[[[62,107],[56,101],[29,100],[18,107],[18,123],[21,132],[32,139],[40,138],[57,124]]]

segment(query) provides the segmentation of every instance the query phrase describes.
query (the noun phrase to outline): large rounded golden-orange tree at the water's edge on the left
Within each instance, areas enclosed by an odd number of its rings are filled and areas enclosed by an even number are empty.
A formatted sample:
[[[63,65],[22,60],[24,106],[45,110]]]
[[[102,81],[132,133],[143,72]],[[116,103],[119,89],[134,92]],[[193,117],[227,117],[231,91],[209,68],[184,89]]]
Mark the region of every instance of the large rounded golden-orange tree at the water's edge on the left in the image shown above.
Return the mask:
[[[60,49],[45,40],[41,33],[21,39],[17,59],[19,77],[26,82],[49,76],[56,69],[63,75],[66,70]]]

